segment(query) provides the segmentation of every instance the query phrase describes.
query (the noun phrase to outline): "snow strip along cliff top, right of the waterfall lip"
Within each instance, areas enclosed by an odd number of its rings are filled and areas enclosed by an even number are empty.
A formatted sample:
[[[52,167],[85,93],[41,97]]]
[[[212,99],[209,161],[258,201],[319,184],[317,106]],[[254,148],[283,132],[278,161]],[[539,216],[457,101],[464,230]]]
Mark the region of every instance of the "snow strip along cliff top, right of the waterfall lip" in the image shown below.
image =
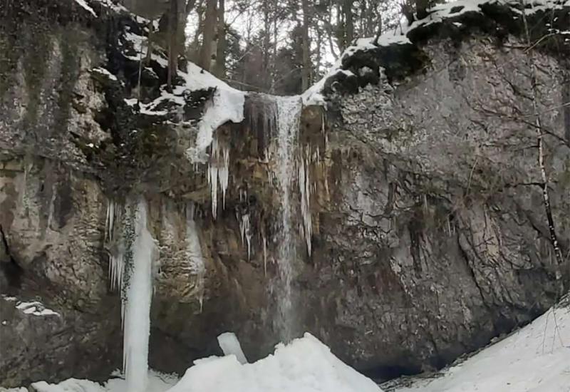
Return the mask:
[[[524,4],[529,5],[526,10],[527,14],[532,14],[546,9],[564,9],[570,7],[570,0],[522,0]],[[356,53],[357,51],[368,51],[382,46],[403,45],[412,43],[408,36],[410,32],[418,29],[419,27],[429,26],[430,24],[437,24],[445,19],[455,18],[467,12],[481,12],[483,4],[504,4],[509,6],[516,14],[522,14],[517,7],[521,5],[521,0],[457,0],[445,4],[437,4],[428,11],[430,14],[424,19],[414,21],[413,24],[404,29],[395,29],[388,31],[378,38],[378,42],[374,43],[374,38],[358,38],[353,41],[353,44],[346,48],[345,51],[339,56],[336,63],[333,64],[331,71],[328,71],[326,76],[321,78],[320,81],[315,83],[303,94],[304,105],[324,105],[325,98],[323,96],[323,88],[328,78],[335,76],[338,73],[345,73],[347,76],[352,76],[353,72],[342,68],[343,58],[347,58]],[[560,32],[564,33],[564,32]]]

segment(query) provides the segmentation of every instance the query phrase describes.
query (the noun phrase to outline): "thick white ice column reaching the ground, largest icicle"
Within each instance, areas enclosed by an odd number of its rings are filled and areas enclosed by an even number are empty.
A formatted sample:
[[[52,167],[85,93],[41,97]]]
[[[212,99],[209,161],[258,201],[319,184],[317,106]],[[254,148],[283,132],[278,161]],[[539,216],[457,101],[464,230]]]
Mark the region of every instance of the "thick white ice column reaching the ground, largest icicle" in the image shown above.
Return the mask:
[[[152,299],[152,261],[155,239],[147,229],[147,204],[140,200],[135,210],[134,240],[128,262],[123,301],[123,370],[127,392],[145,391],[148,383],[148,339]],[[129,235],[128,232],[125,233]]]

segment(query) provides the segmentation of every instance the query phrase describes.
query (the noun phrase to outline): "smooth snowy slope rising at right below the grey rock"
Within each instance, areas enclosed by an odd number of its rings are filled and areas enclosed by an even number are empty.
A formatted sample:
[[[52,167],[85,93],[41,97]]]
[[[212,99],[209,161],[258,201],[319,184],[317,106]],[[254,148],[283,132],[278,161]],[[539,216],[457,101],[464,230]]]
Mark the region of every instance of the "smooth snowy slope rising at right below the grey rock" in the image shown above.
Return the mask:
[[[570,309],[550,309],[439,378],[395,392],[569,392]]]

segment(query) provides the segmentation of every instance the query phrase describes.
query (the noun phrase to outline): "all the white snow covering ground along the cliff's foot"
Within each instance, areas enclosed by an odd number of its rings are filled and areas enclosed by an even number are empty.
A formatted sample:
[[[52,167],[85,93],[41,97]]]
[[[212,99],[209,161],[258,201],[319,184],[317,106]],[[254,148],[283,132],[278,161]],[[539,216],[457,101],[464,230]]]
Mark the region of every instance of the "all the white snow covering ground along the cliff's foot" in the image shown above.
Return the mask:
[[[394,392],[570,392],[570,309],[551,309],[532,324],[436,378],[408,378]],[[35,383],[38,392],[123,392],[125,381],[105,386],[86,380]],[[0,388],[1,391],[1,388]],[[26,391],[15,389],[14,391]],[[236,356],[195,361],[180,380],[151,372],[147,392],[380,392],[370,379],[336,358],[309,334],[255,363]]]

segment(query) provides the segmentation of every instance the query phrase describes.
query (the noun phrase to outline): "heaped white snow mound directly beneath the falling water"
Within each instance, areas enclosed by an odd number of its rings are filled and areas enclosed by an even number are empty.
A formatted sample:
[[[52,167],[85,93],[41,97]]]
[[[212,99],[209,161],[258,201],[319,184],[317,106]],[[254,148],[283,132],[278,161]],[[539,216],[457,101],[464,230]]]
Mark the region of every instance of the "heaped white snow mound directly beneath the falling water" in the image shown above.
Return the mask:
[[[168,392],[381,392],[373,381],[344,364],[311,334],[273,355],[241,364],[236,356],[195,361]]]

